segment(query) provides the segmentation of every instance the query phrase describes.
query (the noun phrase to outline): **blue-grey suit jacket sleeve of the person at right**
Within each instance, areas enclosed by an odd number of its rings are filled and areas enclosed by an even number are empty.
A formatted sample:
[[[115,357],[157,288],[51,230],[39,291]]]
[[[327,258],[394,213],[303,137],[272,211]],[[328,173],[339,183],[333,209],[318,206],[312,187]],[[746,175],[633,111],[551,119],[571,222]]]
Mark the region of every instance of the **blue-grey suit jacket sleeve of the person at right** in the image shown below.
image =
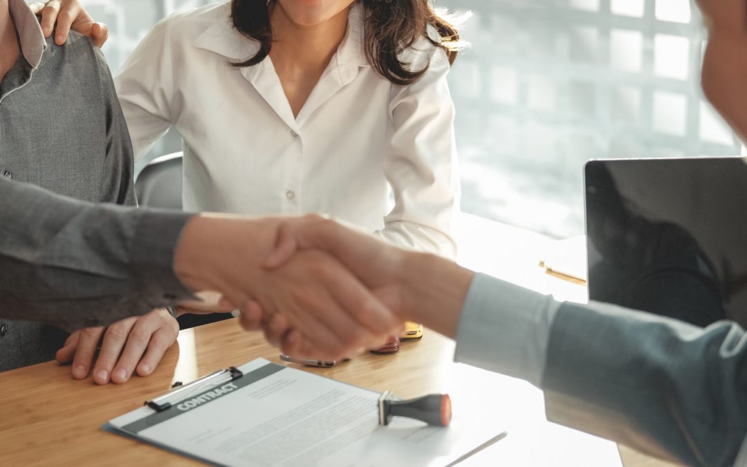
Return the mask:
[[[616,306],[563,304],[548,343],[548,419],[691,466],[733,466],[747,436],[747,335]]]

